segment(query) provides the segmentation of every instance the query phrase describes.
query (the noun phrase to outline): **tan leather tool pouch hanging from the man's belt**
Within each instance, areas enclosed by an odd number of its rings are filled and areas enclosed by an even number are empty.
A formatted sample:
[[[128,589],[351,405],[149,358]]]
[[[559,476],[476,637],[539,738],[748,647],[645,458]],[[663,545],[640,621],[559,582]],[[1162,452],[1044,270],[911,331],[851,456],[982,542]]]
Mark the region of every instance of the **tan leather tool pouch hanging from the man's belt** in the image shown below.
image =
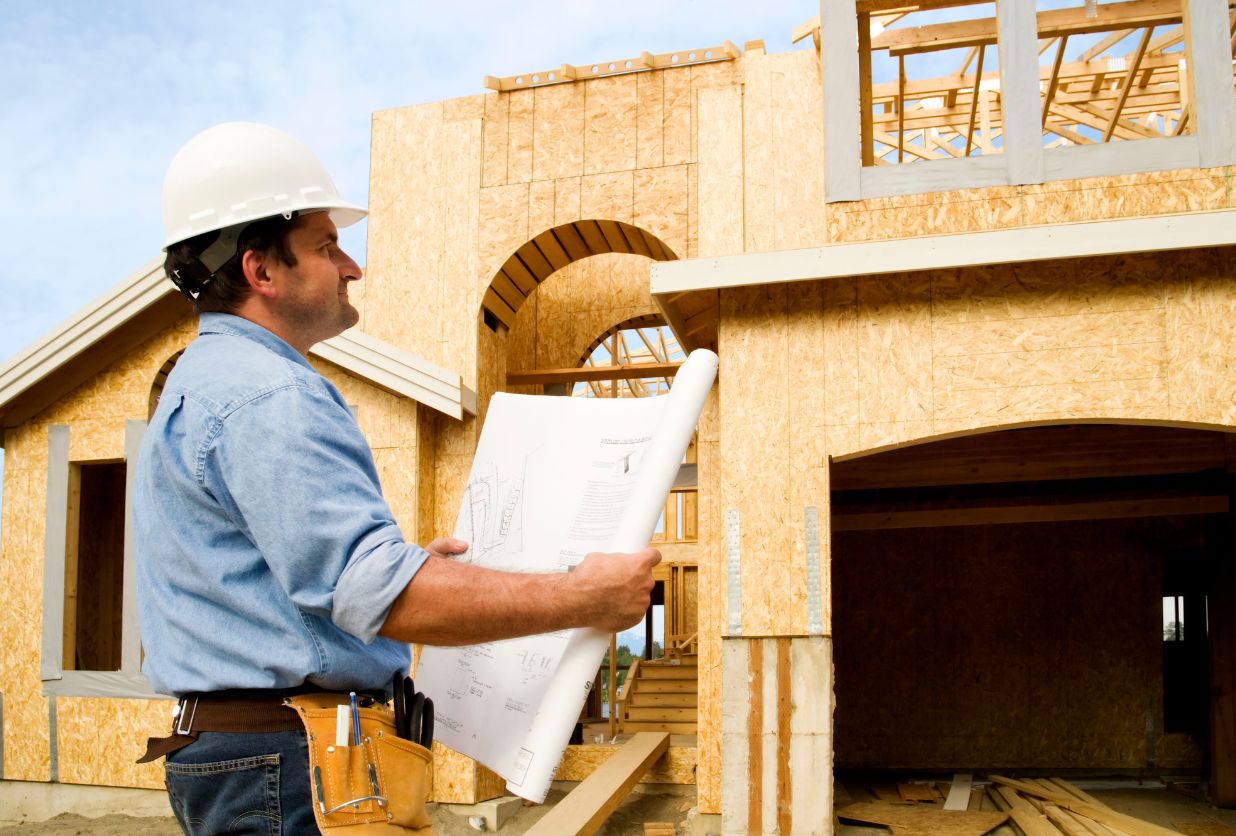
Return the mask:
[[[324,834],[434,832],[425,810],[430,754],[397,737],[394,716],[384,706],[360,709],[360,746],[335,744],[336,694],[303,694],[286,704],[305,725],[309,741],[309,791]]]

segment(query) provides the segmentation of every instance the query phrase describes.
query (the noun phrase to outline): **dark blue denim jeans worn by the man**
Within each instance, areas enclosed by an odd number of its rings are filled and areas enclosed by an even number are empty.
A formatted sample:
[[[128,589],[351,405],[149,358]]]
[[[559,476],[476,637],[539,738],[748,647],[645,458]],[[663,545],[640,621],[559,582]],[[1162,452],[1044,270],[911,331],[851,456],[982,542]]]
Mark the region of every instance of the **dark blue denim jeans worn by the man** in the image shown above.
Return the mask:
[[[304,732],[203,732],[163,767],[189,836],[316,834]]]

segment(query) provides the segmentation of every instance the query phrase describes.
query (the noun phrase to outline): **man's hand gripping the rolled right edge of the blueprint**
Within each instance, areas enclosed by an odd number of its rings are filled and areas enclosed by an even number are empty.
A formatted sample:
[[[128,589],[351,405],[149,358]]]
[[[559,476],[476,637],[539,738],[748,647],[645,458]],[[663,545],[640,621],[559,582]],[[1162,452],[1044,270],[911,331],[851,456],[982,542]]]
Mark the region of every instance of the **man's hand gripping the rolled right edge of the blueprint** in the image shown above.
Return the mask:
[[[617,633],[643,621],[651,604],[653,566],[660,561],[661,553],[651,548],[634,554],[593,552],[585,557],[569,579],[583,602],[586,626]]]

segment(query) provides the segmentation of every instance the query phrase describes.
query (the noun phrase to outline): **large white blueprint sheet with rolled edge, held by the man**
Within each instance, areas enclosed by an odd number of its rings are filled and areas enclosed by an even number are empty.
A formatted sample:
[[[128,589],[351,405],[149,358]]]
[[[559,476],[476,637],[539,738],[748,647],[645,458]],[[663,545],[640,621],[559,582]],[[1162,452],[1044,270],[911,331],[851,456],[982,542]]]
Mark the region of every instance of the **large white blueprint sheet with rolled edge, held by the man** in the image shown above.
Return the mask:
[[[661,397],[494,395],[454,532],[470,545],[455,559],[561,573],[646,547],[716,376],[717,355],[692,351]],[[590,629],[425,647],[417,683],[435,740],[544,801],[608,647]]]

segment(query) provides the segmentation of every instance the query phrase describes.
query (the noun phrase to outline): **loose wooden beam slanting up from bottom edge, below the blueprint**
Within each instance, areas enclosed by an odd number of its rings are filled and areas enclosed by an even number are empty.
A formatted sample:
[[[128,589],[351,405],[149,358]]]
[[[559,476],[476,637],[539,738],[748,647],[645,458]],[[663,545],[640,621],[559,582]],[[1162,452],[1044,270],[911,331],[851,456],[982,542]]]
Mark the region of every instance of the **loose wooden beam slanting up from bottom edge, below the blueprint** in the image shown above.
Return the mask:
[[[534,824],[528,836],[595,834],[669,748],[665,732],[637,732]]]

